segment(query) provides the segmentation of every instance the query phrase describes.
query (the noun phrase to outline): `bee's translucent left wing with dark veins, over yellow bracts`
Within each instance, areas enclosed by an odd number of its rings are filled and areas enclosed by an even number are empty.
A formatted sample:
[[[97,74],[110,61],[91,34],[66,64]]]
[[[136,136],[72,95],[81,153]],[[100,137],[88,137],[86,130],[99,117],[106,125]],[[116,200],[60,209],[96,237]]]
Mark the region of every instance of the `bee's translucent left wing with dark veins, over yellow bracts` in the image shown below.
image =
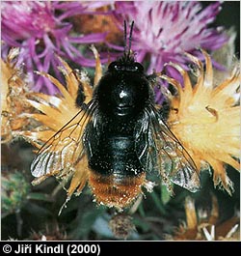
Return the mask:
[[[94,112],[94,103],[81,109],[63,128],[41,148],[31,164],[31,173],[41,176],[64,177],[83,155],[82,135]]]

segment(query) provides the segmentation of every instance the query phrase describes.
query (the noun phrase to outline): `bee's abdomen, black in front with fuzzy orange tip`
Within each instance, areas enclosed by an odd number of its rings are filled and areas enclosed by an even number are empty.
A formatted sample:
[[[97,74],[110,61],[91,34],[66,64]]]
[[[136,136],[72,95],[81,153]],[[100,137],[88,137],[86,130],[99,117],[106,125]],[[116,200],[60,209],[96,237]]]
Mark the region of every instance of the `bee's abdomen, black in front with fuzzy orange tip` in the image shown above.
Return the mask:
[[[142,192],[146,173],[132,136],[102,137],[89,152],[89,185],[99,204],[122,209]]]

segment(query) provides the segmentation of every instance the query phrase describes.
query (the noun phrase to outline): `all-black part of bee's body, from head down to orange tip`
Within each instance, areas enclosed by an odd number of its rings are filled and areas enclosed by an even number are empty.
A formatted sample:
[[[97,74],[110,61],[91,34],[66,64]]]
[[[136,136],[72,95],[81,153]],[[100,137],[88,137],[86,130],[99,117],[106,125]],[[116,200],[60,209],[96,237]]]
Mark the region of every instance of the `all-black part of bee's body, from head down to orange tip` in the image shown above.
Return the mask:
[[[111,63],[94,100],[97,109],[84,138],[91,169],[120,179],[144,172],[136,153],[136,125],[153,103],[153,91],[141,64]]]

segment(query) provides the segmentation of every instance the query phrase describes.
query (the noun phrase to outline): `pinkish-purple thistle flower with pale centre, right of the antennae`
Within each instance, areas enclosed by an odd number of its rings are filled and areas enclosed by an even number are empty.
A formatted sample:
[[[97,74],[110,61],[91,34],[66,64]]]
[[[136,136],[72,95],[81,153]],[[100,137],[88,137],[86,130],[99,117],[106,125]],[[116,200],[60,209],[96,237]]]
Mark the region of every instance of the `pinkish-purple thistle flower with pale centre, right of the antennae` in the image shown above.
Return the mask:
[[[169,62],[189,70],[184,51],[201,58],[198,48],[212,51],[226,43],[228,39],[221,33],[221,28],[208,27],[220,10],[219,2],[202,9],[201,3],[194,1],[117,1],[115,14],[120,29],[124,19],[134,20],[132,49],[138,62],[148,60],[147,72],[150,73],[163,71]],[[166,66],[165,71],[182,83],[174,68]],[[157,93],[158,100],[160,92]]]

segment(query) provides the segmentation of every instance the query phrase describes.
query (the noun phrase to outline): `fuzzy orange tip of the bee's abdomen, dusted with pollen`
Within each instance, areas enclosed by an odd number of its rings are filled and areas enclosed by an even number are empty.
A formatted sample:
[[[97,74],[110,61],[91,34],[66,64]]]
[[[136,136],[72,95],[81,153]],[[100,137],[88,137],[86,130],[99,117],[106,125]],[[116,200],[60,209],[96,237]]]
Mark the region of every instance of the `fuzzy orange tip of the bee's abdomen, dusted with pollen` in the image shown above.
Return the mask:
[[[142,193],[146,174],[124,176],[120,174],[101,175],[90,172],[89,185],[98,204],[122,210],[128,207]]]

